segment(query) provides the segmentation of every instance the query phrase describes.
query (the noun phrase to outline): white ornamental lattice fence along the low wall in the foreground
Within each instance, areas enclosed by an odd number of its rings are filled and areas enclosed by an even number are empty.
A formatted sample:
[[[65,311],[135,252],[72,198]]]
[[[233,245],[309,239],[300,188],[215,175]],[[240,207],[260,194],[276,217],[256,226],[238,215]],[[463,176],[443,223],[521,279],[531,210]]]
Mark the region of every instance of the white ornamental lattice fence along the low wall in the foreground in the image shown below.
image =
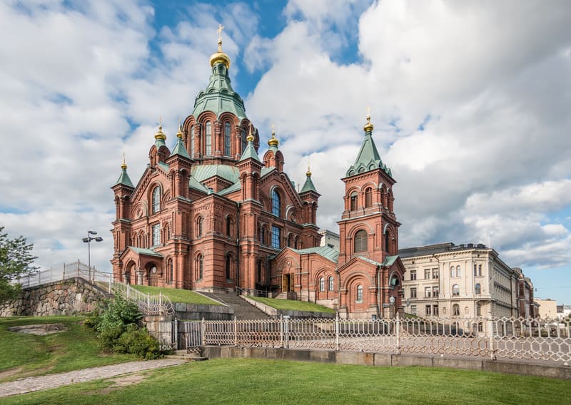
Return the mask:
[[[569,364],[571,326],[550,319],[279,319],[186,322],[186,346],[443,354]],[[191,333],[188,333],[191,332]]]

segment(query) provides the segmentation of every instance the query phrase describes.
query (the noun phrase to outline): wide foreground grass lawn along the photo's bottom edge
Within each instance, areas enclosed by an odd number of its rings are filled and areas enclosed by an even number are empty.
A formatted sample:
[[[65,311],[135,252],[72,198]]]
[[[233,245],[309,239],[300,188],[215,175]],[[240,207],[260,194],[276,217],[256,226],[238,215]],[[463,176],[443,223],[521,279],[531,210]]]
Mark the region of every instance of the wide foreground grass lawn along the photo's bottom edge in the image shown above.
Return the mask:
[[[216,359],[1,399],[3,404],[568,404],[571,381],[423,367]],[[120,380],[121,377],[117,377]]]

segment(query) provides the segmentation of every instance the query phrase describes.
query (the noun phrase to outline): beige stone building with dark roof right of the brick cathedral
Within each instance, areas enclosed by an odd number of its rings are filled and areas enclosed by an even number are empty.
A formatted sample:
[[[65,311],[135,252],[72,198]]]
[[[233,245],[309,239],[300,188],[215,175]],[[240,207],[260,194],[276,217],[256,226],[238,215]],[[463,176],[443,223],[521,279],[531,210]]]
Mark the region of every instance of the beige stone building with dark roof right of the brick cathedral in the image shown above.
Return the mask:
[[[405,312],[420,317],[515,317],[520,272],[485,245],[401,249]],[[521,270],[520,270],[521,271]]]

